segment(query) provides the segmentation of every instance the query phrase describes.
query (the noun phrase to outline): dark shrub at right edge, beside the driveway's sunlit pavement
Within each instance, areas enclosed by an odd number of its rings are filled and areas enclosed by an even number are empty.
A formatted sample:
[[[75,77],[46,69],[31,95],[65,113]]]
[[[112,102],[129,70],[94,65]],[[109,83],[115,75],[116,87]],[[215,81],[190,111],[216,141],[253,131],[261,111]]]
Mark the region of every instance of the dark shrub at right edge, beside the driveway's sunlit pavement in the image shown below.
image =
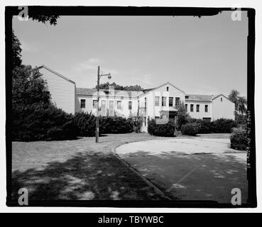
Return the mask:
[[[230,136],[230,147],[236,150],[246,150],[247,135],[244,128],[233,128]]]

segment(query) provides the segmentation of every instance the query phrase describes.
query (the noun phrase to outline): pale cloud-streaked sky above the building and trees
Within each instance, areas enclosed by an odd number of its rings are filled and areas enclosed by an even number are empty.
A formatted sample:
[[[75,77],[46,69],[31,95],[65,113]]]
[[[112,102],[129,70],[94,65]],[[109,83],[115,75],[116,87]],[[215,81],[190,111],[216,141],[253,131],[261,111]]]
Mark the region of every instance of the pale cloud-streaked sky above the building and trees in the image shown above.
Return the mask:
[[[25,65],[46,65],[92,88],[101,83],[170,82],[187,94],[247,92],[248,18],[216,16],[60,16],[56,26],[13,18]]]

